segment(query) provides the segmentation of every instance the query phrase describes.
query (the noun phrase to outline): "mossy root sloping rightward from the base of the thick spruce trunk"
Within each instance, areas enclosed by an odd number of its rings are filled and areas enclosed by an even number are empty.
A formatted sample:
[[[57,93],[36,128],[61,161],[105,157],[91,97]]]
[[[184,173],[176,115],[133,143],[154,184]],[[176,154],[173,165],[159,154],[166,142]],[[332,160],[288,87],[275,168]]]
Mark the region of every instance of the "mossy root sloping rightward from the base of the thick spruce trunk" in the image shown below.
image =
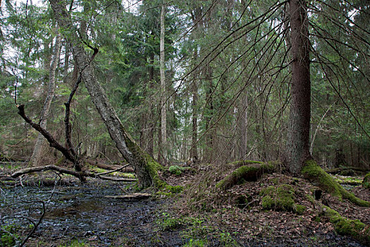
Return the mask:
[[[306,165],[302,168],[302,174],[306,179],[312,181],[316,186],[319,186],[323,191],[331,193],[338,198],[345,198],[352,203],[362,206],[370,207],[370,203],[366,200],[361,200],[354,196],[353,193],[346,191],[345,188],[333,179],[333,177],[326,173],[314,160],[308,160]]]

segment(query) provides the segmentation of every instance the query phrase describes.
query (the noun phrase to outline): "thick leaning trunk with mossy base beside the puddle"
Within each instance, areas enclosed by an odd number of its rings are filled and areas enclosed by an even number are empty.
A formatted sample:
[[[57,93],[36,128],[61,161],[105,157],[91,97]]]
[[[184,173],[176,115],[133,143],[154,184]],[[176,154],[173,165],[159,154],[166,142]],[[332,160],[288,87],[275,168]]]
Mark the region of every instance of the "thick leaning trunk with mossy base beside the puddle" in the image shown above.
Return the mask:
[[[157,170],[161,166],[150,155],[144,152],[125,131],[123,124],[106,96],[106,92],[95,78],[94,68],[90,64],[92,58],[85,52],[85,42],[82,40],[82,37],[79,37],[78,31],[73,26],[65,6],[58,0],[49,0],[49,2],[58,24],[64,30],[65,37],[70,43],[73,58],[80,69],[82,80],[85,82],[92,102],[97,107],[97,111],[108,128],[112,140],[116,143],[116,147],[123,157],[135,168],[139,185],[142,188],[163,185],[157,174]]]

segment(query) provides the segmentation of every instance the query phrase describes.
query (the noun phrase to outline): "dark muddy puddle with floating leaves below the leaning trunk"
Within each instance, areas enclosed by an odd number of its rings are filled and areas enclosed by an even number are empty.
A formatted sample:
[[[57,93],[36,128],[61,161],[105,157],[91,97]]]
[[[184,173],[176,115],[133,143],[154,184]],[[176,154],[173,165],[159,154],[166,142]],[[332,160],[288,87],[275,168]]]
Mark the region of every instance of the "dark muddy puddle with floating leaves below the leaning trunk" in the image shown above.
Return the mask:
[[[106,195],[124,194],[123,183],[86,183],[75,186],[16,187],[1,189],[1,225],[22,227],[24,236],[32,222],[47,210],[26,246],[182,246],[178,232],[159,234],[156,219],[165,200],[123,200]],[[28,226],[28,229],[27,229]],[[18,229],[19,230],[19,229]]]

